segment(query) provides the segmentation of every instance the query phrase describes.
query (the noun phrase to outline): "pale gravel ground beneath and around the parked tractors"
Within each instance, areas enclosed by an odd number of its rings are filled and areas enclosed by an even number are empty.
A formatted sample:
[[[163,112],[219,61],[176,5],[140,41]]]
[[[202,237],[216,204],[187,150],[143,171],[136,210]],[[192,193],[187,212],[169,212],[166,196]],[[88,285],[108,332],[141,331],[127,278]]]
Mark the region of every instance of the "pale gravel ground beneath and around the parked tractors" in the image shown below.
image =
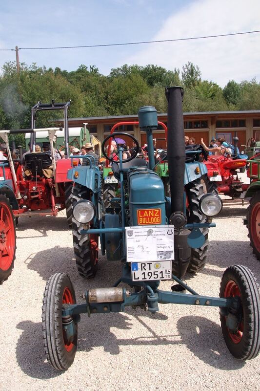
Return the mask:
[[[231,264],[248,266],[260,281],[260,262],[242,222],[246,208],[224,200],[217,227],[210,229],[207,265],[186,280],[200,294],[218,296],[221,275]],[[0,286],[1,390],[260,390],[260,357],[234,359],[222,338],[218,308],[188,305],[160,304],[155,316],[129,308],[82,315],[74,364],[56,371],[45,360],[41,336],[46,281],[55,272],[68,273],[83,302],[86,286],[111,286],[120,265],[100,257],[95,280],[78,277],[64,214],[20,218],[17,238],[15,268]]]

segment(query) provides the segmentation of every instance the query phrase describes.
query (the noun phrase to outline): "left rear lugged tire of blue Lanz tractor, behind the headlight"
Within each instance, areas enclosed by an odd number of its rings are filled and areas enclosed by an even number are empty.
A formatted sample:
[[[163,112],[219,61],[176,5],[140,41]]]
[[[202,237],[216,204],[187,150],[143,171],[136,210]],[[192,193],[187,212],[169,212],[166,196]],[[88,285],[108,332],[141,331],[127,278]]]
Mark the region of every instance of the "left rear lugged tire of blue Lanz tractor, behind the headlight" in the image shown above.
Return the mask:
[[[75,183],[73,190],[73,207],[76,202],[89,199],[89,190]],[[80,276],[84,278],[95,277],[98,270],[99,236],[81,235],[83,224],[72,216],[72,236],[76,264]]]

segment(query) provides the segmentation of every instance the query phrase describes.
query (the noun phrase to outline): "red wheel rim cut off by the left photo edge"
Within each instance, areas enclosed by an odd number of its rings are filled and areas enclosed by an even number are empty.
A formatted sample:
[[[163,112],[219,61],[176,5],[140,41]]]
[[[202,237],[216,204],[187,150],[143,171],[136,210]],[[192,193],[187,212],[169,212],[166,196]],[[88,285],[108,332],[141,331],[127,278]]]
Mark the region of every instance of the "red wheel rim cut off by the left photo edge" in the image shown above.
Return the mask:
[[[15,226],[12,212],[0,203],[0,269],[8,270],[15,254]]]

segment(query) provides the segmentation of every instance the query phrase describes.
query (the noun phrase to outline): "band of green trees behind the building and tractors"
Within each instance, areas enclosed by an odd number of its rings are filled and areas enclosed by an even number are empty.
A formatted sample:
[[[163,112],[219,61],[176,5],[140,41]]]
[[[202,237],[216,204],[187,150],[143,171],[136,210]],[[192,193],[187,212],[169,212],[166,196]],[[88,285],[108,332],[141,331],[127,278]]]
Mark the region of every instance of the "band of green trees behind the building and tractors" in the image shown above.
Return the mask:
[[[104,76],[95,65],[82,64],[68,72],[21,63],[17,75],[16,63],[9,62],[0,75],[0,129],[30,128],[32,106],[52,99],[71,99],[70,117],[135,114],[146,105],[166,112],[165,87],[172,86],[184,86],[184,111],[260,109],[260,84],[255,79],[240,84],[232,80],[222,90],[213,81],[201,80],[200,68],[191,62],[182,66],[181,78],[177,68],[152,64],[124,64]],[[60,117],[58,110],[39,112],[37,126],[49,126]],[[14,138],[24,146],[22,135]]]

